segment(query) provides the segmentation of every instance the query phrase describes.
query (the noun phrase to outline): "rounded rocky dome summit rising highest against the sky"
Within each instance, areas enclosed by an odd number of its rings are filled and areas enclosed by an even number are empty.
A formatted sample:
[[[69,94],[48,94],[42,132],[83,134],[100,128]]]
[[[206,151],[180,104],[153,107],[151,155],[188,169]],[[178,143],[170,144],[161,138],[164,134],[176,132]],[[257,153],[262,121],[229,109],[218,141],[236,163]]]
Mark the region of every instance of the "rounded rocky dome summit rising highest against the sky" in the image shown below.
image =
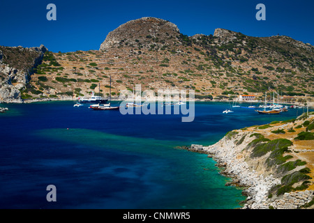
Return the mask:
[[[154,17],[142,17],[121,24],[108,33],[99,50],[122,46],[172,45],[178,34],[179,29],[172,22]]]

